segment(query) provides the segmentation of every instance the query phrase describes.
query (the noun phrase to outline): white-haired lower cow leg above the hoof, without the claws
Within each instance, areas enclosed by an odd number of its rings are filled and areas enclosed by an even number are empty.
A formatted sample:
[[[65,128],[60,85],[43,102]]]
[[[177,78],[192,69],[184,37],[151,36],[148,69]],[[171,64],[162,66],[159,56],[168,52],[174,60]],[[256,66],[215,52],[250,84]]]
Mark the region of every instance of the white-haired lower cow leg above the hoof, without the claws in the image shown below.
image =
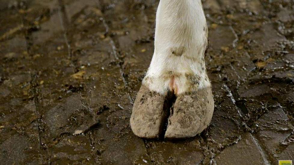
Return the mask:
[[[161,0],[156,13],[155,50],[143,84],[163,94],[210,86],[204,62],[207,23],[201,0]]]

